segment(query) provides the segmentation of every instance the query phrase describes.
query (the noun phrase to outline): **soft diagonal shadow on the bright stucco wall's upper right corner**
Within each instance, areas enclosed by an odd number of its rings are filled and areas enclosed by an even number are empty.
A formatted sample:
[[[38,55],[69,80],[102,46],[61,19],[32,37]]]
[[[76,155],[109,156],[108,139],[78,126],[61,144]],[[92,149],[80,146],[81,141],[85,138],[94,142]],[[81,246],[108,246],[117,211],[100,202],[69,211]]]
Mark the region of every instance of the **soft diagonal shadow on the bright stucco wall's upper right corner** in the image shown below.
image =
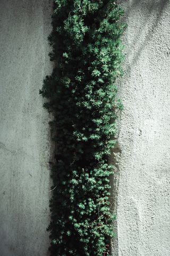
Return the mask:
[[[142,51],[151,40],[152,35],[162,21],[162,14],[168,2],[168,0],[130,0],[128,3],[122,0],[119,2],[125,9],[124,21],[128,23],[131,29],[130,33],[129,27],[126,31],[127,34],[131,35],[131,42],[128,42],[127,38],[124,42],[125,51],[127,52],[125,59],[131,59],[126,66],[126,74],[130,75],[131,67],[137,63]],[[136,19],[137,13],[139,14],[139,20]]]

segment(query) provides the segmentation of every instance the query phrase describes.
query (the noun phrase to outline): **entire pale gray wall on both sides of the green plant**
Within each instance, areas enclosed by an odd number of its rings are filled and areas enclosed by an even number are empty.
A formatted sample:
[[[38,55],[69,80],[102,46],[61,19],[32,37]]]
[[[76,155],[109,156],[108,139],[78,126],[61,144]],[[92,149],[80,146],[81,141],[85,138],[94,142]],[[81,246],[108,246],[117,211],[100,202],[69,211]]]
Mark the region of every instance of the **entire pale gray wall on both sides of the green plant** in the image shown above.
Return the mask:
[[[52,67],[47,0],[0,1],[0,255],[46,256]],[[115,150],[114,256],[169,256],[170,1],[126,0],[124,111]],[[115,193],[116,191],[116,193]]]

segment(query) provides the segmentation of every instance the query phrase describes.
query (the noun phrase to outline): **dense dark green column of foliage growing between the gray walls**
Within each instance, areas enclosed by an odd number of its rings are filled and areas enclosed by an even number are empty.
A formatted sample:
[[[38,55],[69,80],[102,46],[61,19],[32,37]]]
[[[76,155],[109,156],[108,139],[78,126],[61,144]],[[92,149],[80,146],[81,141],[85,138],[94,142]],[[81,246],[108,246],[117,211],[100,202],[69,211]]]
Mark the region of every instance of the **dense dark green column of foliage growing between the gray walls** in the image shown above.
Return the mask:
[[[52,256],[110,254],[115,217],[108,156],[122,109],[115,84],[122,74],[122,15],[112,0],[54,1],[48,39],[55,68],[40,90],[54,116],[50,126],[57,148],[48,228]]]

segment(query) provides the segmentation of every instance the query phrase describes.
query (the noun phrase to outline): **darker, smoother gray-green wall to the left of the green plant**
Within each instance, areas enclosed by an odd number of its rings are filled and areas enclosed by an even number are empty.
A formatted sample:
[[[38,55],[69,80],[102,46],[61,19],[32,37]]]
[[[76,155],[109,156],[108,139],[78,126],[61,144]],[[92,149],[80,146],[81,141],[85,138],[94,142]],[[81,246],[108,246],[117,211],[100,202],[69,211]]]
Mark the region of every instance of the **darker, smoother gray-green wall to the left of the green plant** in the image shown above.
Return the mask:
[[[51,2],[51,1],[50,1]],[[0,255],[45,256],[49,244],[50,73],[46,0],[0,1]]]

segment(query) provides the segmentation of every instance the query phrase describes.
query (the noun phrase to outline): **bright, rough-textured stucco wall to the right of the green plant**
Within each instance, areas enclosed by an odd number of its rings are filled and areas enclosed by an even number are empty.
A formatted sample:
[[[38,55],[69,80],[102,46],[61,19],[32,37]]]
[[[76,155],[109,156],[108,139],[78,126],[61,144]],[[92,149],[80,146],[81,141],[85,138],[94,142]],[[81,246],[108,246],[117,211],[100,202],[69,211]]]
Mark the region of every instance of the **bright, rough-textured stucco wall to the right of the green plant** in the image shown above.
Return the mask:
[[[170,1],[120,3],[128,29],[113,255],[169,256]]]

